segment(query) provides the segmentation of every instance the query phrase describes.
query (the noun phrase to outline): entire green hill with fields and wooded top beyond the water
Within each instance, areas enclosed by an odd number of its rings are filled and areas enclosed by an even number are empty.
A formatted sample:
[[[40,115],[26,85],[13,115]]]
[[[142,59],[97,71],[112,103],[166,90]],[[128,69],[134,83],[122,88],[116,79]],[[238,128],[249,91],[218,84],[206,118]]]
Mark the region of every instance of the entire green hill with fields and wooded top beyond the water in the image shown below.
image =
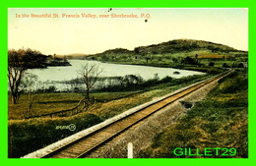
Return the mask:
[[[80,59],[201,70],[199,68],[245,67],[248,52],[210,41],[175,39],[160,44],[135,47],[133,50],[109,49],[102,53],[81,56]]]

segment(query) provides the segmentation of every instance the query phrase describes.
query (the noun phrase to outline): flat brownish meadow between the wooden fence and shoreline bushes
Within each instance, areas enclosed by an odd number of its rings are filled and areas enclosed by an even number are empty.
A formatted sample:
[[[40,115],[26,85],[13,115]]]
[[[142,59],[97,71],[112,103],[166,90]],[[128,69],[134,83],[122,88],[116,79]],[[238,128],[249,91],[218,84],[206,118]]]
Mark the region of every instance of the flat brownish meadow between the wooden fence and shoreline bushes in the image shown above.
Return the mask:
[[[136,91],[123,92],[101,92],[93,93],[97,100],[102,102],[125,97],[136,93]],[[32,106],[32,115],[42,115],[53,113],[61,110],[73,108],[83,98],[80,93],[35,93],[33,94],[34,102]],[[23,119],[24,112],[29,109],[28,94],[22,94],[18,104],[12,104],[11,96],[9,96],[8,117],[9,119]]]

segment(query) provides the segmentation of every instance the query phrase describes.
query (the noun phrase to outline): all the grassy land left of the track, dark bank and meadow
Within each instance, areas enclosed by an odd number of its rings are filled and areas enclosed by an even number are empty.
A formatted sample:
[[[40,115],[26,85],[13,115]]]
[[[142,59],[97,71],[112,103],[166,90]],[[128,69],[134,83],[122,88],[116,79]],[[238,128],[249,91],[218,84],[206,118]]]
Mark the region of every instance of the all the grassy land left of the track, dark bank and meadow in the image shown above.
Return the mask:
[[[118,115],[132,107],[143,104],[147,101],[151,101],[155,97],[160,97],[185,85],[196,83],[209,77],[209,75],[192,76],[171,80],[171,82],[168,83],[156,84],[152,87],[149,87],[148,91],[142,93],[129,95],[128,97],[115,99],[108,102],[97,102],[91,107],[89,111],[82,112],[71,117],[58,117],[52,119],[32,118],[29,120],[10,119],[8,123],[9,157],[20,157],[26,155],[58,139],[66,138],[108,118]],[[97,98],[110,99],[111,97],[119,98],[120,96],[127,94],[131,94],[131,92],[97,93],[94,95]],[[73,104],[77,103],[80,97],[80,94],[75,93],[45,93],[35,95],[38,95],[40,100],[35,101],[37,102],[37,106],[34,106],[34,114],[40,114],[42,112],[50,113],[52,111],[63,109],[66,106],[73,106]],[[23,101],[25,102],[20,102],[20,104],[18,104],[19,106],[14,107],[10,104],[9,115],[12,115],[16,118],[21,118],[22,113],[20,113],[19,117],[19,111],[21,111],[21,108],[23,107],[26,108],[26,95],[23,97]],[[73,102],[69,102],[68,104],[70,105],[66,105],[67,100],[71,100]],[[40,104],[38,104],[38,102],[40,102]],[[43,111],[39,109],[39,106],[43,109]],[[45,107],[47,107],[47,109]],[[76,125],[77,128],[75,131],[56,129],[57,126],[68,126],[70,124]]]

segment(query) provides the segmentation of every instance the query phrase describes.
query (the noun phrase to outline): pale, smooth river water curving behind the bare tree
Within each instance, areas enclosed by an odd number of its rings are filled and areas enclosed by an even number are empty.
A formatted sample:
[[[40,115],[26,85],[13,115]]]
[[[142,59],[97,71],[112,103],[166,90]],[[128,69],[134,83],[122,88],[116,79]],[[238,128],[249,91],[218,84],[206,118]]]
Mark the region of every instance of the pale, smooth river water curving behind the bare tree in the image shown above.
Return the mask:
[[[89,66],[96,65],[99,69],[102,70],[102,73],[99,77],[124,77],[126,75],[139,75],[144,80],[149,80],[153,79],[156,74],[158,74],[160,79],[166,76],[178,79],[186,76],[204,74],[201,72],[177,70],[171,68],[108,64],[88,60],[69,60],[69,62],[72,66],[48,67],[47,69],[31,69],[28,72],[37,76],[37,81],[40,84],[37,84],[36,88],[38,88],[38,86],[47,87],[49,85],[55,85],[58,89],[64,89],[68,87],[67,85],[54,82],[70,81],[72,79],[78,78],[78,71],[81,70],[81,66],[87,63]],[[173,74],[174,72],[178,72],[179,74]]]

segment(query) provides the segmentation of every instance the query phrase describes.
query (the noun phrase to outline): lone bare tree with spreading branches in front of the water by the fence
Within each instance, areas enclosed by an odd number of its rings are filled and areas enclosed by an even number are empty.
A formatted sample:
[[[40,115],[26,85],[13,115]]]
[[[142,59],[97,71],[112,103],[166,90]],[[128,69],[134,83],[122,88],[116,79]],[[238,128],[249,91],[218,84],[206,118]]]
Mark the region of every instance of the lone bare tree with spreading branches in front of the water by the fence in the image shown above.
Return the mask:
[[[96,84],[98,76],[101,74],[102,70],[99,70],[96,65],[90,66],[86,64],[81,67],[81,70],[78,71],[79,75],[82,76],[82,81],[86,86],[86,99],[90,100],[90,92]]]

